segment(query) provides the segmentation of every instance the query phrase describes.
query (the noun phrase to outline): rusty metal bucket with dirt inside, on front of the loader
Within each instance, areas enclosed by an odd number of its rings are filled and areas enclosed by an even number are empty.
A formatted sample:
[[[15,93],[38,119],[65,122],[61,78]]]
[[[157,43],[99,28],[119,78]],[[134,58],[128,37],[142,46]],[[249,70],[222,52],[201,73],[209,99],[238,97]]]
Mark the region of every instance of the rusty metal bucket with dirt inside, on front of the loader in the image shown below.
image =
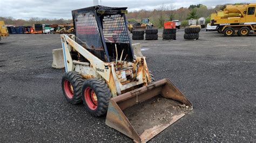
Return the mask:
[[[110,99],[106,125],[146,142],[193,109],[166,78]]]

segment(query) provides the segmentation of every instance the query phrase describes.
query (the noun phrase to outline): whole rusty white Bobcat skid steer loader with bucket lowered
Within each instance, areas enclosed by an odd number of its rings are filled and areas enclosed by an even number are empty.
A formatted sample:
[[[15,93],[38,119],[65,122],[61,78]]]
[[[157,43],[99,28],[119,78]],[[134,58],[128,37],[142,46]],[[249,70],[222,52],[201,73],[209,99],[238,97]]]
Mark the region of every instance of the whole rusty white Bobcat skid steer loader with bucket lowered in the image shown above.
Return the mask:
[[[73,10],[75,35],[60,35],[65,73],[62,89],[71,104],[136,142],[146,142],[192,110],[166,78],[153,82],[144,56],[133,53],[127,8]]]

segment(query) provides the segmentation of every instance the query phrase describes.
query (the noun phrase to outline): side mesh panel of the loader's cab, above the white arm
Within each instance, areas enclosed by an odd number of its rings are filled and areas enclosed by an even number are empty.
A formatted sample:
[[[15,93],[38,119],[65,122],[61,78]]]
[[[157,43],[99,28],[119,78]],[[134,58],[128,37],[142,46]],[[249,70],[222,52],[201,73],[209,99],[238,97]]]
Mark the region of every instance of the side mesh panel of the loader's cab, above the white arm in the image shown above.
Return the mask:
[[[75,25],[78,44],[83,47],[87,44],[90,49],[103,50],[97,22],[92,12],[77,15]]]

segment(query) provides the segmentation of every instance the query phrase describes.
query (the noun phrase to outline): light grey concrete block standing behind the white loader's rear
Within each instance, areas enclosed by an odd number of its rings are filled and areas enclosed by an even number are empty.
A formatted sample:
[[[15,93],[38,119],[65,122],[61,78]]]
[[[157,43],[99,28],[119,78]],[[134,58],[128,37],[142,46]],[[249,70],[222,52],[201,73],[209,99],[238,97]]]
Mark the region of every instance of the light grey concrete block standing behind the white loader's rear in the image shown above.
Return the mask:
[[[52,65],[53,68],[64,68],[64,57],[62,48],[52,49]]]

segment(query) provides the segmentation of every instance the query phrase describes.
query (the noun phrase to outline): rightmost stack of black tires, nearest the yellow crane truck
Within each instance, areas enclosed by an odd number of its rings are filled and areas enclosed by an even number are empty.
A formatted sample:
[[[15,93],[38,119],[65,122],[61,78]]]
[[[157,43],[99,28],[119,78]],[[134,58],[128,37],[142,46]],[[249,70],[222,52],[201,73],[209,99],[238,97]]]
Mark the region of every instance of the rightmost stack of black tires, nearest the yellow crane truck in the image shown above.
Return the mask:
[[[185,28],[184,39],[186,39],[186,40],[194,40],[194,39],[198,40],[200,30],[201,30],[200,27],[186,27]]]

